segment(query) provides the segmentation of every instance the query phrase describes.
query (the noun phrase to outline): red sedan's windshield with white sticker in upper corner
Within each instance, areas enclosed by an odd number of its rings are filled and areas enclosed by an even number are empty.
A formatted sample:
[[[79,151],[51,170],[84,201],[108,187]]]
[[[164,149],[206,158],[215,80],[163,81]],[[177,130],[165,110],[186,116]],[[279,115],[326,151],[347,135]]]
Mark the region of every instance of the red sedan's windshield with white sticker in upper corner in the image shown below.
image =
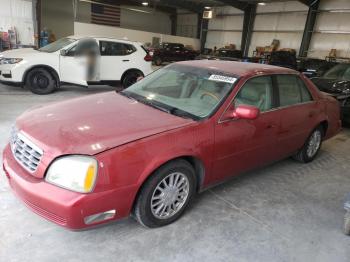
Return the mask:
[[[237,77],[210,68],[173,64],[150,74],[122,94],[181,117],[210,116]]]

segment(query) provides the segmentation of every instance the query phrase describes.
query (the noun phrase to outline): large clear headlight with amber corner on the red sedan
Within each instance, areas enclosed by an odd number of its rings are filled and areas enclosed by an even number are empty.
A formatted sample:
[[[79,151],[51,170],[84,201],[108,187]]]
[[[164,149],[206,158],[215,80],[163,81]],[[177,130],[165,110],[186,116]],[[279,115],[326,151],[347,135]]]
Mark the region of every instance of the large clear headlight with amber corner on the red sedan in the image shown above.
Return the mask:
[[[65,156],[55,160],[47,171],[48,183],[80,193],[89,193],[95,186],[97,161],[89,156]]]

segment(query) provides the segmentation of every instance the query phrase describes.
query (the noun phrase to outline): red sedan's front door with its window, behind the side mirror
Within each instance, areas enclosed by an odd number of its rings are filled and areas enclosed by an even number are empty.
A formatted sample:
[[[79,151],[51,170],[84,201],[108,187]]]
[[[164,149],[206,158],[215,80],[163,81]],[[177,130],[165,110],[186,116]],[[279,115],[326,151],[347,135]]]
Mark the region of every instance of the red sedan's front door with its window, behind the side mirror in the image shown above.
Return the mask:
[[[273,90],[270,76],[251,78],[233,103],[258,107],[260,116],[254,120],[222,121],[216,125],[214,174],[217,181],[278,158],[276,147],[281,116],[274,110]]]

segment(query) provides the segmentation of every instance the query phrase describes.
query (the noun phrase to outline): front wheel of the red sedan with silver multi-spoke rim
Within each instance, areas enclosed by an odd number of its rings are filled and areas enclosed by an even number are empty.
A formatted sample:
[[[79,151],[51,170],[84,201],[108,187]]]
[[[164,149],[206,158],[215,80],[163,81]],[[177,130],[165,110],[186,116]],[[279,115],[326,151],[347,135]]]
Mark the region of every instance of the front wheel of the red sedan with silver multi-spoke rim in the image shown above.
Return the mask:
[[[187,161],[165,164],[142,186],[134,217],[149,228],[168,225],[181,217],[194,192],[195,172]]]

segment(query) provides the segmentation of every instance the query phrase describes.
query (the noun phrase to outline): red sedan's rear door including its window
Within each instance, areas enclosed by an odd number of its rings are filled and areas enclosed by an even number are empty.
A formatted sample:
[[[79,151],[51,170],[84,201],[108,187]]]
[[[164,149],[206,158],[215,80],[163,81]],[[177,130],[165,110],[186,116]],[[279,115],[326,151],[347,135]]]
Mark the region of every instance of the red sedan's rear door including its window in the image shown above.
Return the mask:
[[[298,75],[276,75],[281,127],[278,136],[282,156],[300,149],[317,126],[319,107]]]

